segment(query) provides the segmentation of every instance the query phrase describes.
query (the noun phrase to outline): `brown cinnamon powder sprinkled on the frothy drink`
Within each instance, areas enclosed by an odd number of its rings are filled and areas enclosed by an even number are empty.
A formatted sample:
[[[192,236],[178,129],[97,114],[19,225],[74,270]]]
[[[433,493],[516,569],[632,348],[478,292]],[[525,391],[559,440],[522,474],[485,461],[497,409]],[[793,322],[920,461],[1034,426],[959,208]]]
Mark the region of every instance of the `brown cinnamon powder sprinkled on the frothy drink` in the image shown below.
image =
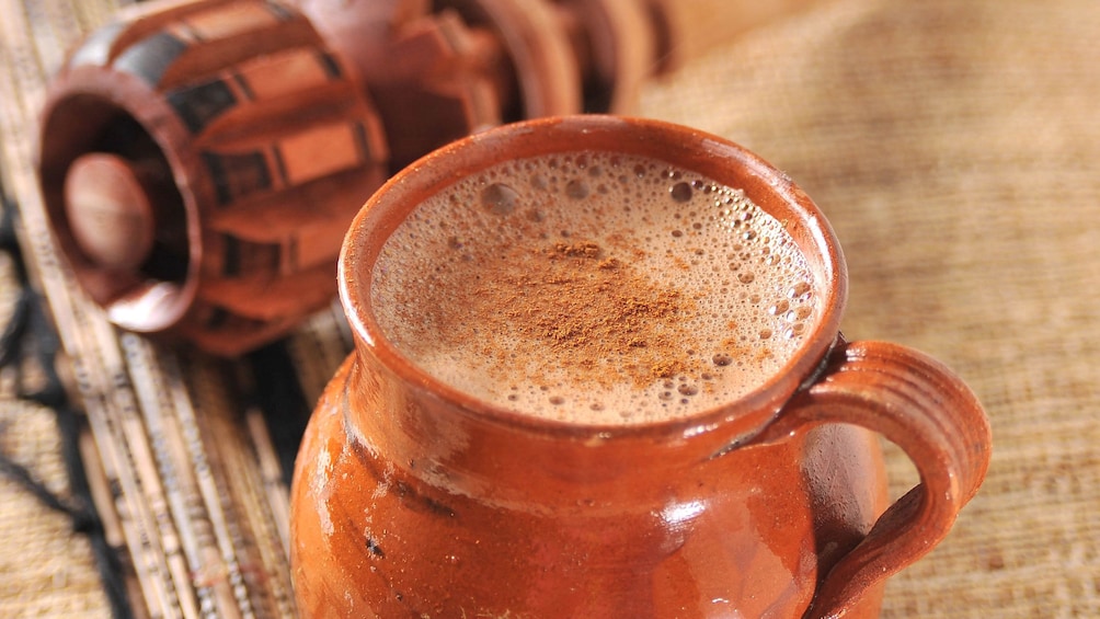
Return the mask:
[[[691,339],[682,323],[694,311],[692,300],[640,277],[601,245],[560,241],[537,250],[501,248],[497,256],[504,259],[480,265],[480,283],[455,291],[465,298],[453,307],[477,317],[471,328],[482,333],[480,352],[496,358],[502,376],[515,362],[501,356],[506,347],[494,345],[497,336],[518,342],[517,354],[548,356],[549,350],[558,371],[581,384],[645,386],[702,369],[694,351],[685,350]],[[448,331],[462,340],[465,329],[452,322]]]

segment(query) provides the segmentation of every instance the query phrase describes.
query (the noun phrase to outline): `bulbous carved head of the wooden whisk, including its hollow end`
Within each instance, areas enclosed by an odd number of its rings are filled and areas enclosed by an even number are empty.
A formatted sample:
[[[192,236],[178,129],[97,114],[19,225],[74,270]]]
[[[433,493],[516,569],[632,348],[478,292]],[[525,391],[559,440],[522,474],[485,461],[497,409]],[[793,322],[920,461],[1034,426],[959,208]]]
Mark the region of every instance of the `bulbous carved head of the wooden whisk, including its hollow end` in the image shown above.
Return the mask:
[[[59,247],[112,322],[232,355],[331,301],[388,148],[305,15],[198,1],[86,40],[47,93],[38,165]]]

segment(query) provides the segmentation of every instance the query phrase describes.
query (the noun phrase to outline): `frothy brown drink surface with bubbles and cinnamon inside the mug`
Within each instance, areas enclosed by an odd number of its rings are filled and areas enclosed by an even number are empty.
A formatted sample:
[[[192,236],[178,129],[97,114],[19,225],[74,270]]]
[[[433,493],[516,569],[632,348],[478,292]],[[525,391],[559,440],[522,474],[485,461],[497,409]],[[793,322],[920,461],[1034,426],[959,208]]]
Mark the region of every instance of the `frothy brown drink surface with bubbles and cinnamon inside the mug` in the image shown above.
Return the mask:
[[[494,406],[583,424],[744,396],[818,319],[805,257],[737,188],[656,159],[499,164],[419,205],[371,303],[417,366]]]

